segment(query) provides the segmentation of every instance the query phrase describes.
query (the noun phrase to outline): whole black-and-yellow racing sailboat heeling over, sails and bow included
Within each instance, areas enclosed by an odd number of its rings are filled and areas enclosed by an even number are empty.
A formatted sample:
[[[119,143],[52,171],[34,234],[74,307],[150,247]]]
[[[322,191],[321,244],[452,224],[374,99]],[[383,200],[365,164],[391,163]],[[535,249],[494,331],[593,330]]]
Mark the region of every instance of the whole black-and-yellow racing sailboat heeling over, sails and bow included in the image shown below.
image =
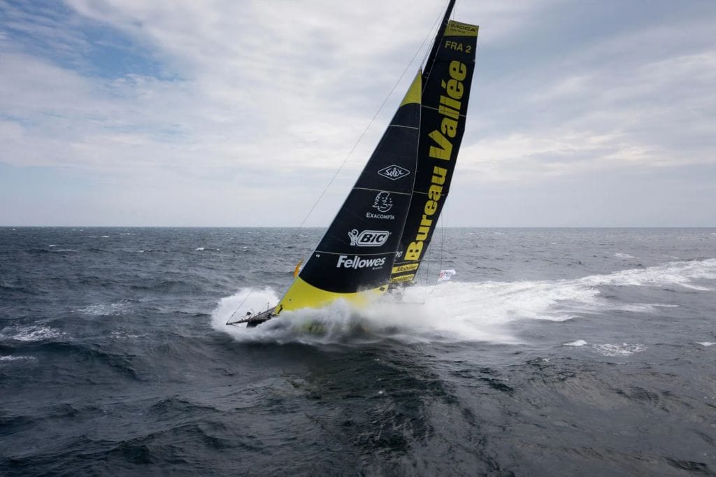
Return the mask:
[[[227,324],[255,327],[338,299],[361,307],[414,281],[448,198],[475,67],[478,26],[450,20],[454,5],[450,0],[424,67],[284,297]]]

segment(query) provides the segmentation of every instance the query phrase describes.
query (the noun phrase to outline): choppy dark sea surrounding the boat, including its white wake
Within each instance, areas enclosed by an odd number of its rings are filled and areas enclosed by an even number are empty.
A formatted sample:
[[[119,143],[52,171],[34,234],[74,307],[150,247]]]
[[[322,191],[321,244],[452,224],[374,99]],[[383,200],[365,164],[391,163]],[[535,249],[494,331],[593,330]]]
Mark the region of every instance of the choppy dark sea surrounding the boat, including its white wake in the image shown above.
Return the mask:
[[[0,474],[716,475],[716,229],[448,229],[403,302],[224,325],[320,236],[0,228]]]

